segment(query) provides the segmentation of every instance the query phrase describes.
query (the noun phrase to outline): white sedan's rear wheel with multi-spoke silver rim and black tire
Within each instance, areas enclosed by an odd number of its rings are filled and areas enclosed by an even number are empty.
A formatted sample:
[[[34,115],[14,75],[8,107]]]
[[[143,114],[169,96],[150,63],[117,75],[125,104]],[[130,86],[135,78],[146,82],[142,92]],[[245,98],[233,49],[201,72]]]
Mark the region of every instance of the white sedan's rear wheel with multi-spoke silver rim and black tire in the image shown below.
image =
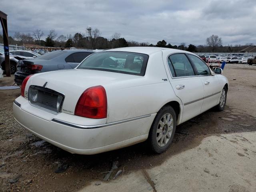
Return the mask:
[[[158,154],[164,152],[170,146],[175,130],[176,113],[171,106],[164,106],[156,114],[149,131],[148,142],[151,150]]]

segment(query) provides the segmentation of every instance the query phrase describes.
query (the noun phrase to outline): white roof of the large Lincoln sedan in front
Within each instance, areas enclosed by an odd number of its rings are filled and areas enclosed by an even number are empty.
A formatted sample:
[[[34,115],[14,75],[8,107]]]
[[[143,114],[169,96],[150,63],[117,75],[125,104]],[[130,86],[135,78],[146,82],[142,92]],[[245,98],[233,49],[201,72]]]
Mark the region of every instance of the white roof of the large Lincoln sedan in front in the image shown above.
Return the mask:
[[[150,55],[159,51],[163,51],[163,52],[167,51],[170,53],[176,53],[176,52],[190,53],[184,50],[170,49],[170,48],[163,48],[163,47],[122,47],[122,48],[104,50],[104,52],[107,52],[107,51],[124,51],[124,52],[142,53],[147,55]]]

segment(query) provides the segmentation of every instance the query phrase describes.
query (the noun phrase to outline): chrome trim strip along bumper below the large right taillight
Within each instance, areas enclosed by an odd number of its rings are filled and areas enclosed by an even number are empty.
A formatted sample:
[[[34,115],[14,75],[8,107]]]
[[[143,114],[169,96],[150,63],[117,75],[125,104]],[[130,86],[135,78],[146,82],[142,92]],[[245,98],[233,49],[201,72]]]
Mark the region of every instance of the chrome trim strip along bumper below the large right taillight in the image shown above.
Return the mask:
[[[96,128],[102,128],[102,127],[107,127],[107,126],[113,126],[113,125],[117,125],[117,124],[121,124],[121,123],[127,123],[127,122],[130,122],[130,121],[135,121],[135,120],[139,120],[139,119],[143,119],[143,118],[147,118],[147,117],[151,117],[151,114],[140,116],[140,117],[135,117],[135,118],[131,118],[131,119],[126,119],[126,120],[122,120],[122,121],[116,121],[116,122],[112,122],[112,123],[101,124],[101,125],[78,125],[78,124],[73,124],[73,123],[69,123],[69,122],[66,122],[66,121],[58,120],[58,119],[52,119],[52,121],[56,122],[56,123],[59,123],[59,124],[66,125],[66,126],[74,127],[74,128],[96,129]]]

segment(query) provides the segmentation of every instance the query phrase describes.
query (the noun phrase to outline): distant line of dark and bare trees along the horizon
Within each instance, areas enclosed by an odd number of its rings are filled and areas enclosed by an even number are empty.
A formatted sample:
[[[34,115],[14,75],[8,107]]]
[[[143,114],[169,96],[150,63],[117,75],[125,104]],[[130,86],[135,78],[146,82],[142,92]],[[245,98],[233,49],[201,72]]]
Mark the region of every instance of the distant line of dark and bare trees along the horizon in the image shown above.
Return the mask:
[[[44,32],[40,29],[36,29],[32,33],[20,33],[15,32],[13,36],[8,37],[9,44],[36,44],[47,47],[61,47],[61,48],[87,48],[87,49],[110,49],[128,46],[156,46],[164,48],[174,48],[179,50],[187,50],[190,52],[238,52],[246,46],[253,45],[252,43],[246,45],[228,45],[222,46],[222,38],[218,35],[211,35],[206,38],[205,45],[195,46],[194,44],[188,44],[185,42],[180,45],[167,44],[165,40],[158,41],[155,45],[148,42],[136,42],[133,40],[126,40],[121,37],[121,34],[115,32],[110,39],[101,36],[101,32],[98,28],[90,30],[87,34],[76,32],[75,34],[59,35],[55,30],[50,30],[45,38]],[[3,36],[0,33],[0,43],[3,43]]]

